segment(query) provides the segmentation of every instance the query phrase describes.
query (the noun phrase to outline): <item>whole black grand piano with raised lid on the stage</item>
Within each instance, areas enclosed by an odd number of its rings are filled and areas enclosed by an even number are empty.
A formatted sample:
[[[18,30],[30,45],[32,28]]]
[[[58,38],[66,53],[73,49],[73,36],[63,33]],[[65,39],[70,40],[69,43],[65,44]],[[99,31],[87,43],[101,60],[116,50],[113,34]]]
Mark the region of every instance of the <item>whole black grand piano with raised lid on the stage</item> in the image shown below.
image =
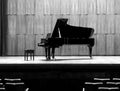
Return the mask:
[[[85,44],[89,48],[89,56],[92,58],[92,47],[94,46],[93,28],[71,26],[67,24],[68,19],[57,19],[53,33],[48,33],[46,38],[41,39],[38,46],[45,48],[46,59],[54,59],[55,48],[62,45]]]

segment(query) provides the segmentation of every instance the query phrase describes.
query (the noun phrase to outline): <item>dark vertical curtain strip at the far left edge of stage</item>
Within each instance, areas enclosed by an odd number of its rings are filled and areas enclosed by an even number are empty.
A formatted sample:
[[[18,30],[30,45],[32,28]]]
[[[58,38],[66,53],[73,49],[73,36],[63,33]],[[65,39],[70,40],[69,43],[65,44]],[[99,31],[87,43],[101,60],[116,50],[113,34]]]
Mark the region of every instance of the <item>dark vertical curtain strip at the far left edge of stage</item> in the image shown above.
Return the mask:
[[[0,56],[6,55],[7,0],[0,0]]]

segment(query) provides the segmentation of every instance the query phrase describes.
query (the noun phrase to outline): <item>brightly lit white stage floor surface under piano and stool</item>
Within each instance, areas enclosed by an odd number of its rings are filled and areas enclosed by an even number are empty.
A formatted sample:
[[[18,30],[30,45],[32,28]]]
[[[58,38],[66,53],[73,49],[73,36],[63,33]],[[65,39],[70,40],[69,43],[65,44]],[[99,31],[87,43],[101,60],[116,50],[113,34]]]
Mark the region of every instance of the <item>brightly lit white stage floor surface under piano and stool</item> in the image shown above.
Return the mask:
[[[35,56],[35,60],[24,61],[24,56],[0,57],[0,64],[120,64],[120,56],[56,56],[47,61],[44,56]]]

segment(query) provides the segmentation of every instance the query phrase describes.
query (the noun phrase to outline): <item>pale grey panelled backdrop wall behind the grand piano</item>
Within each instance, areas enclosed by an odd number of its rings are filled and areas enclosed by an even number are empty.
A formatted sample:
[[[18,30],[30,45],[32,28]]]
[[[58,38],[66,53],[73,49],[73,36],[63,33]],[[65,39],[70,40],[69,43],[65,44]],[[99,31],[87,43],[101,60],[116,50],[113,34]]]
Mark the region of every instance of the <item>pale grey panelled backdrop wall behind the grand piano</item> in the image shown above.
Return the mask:
[[[57,18],[68,18],[73,26],[92,27],[93,55],[120,55],[120,0],[8,0],[6,55],[23,55],[53,31]],[[64,45],[56,55],[88,55],[88,47]]]

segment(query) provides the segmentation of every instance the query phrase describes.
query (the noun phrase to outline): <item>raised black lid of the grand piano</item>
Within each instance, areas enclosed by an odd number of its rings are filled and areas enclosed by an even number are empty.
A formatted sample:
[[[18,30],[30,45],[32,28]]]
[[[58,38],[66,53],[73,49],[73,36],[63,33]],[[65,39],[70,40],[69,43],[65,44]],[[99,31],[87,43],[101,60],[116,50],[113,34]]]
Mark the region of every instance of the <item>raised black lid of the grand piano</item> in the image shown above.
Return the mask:
[[[52,33],[52,38],[90,38],[94,29],[90,27],[72,26],[68,19],[59,18]]]

